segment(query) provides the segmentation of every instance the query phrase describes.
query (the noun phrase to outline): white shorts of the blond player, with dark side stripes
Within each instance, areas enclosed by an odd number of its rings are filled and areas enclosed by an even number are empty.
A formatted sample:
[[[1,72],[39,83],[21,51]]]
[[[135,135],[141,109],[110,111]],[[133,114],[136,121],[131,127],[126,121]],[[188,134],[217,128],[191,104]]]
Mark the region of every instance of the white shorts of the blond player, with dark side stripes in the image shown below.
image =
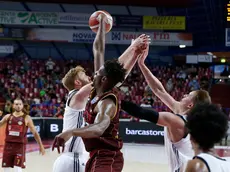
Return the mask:
[[[88,154],[67,152],[61,154],[53,165],[53,172],[85,172]]]

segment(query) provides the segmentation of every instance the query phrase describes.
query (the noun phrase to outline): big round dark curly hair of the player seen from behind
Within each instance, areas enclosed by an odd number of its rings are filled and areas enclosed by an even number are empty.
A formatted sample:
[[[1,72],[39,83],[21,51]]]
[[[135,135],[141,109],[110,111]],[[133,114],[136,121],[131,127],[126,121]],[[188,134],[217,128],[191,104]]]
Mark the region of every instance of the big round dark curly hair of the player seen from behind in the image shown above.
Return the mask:
[[[218,106],[198,103],[188,113],[186,127],[200,148],[209,150],[226,135],[228,118]]]

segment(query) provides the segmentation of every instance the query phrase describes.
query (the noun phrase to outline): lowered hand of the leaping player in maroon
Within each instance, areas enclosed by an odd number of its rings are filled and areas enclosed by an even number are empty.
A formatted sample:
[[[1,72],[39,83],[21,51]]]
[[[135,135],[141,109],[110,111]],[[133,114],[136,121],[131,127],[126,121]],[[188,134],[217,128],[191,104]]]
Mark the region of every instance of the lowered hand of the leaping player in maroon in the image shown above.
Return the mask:
[[[72,137],[71,131],[65,131],[59,135],[57,135],[54,139],[52,151],[57,148],[58,153],[60,153],[60,147],[62,147],[62,152],[65,149],[65,142]]]

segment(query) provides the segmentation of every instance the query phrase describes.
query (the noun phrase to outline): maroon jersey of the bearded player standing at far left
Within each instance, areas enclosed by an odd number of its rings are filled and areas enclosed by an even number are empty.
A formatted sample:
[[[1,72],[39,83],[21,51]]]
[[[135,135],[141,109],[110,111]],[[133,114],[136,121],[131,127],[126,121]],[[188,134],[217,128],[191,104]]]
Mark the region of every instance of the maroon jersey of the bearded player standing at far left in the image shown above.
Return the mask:
[[[25,123],[25,115],[15,117],[13,114],[10,115],[6,124],[6,138],[7,143],[27,143],[27,130],[28,127]]]

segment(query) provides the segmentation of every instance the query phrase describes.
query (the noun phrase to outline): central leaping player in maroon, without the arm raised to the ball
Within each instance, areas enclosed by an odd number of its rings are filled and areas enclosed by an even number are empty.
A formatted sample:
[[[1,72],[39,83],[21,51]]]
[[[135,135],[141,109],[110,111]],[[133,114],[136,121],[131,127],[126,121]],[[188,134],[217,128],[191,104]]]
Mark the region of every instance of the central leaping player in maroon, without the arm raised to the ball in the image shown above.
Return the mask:
[[[68,130],[55,138],[56,147],[64,146],[64,141],[71,136],[83,138],[86,150],[90,152],[87,172],[122,171],[124,159],[120,149],[123,142],[118,137],[120,105],[118,90],[114,87],[123,82],[125,73],[125,69],[117,60],[106,61],[95,73],[94,88],[86,106],[85,120],[89,125]]]

